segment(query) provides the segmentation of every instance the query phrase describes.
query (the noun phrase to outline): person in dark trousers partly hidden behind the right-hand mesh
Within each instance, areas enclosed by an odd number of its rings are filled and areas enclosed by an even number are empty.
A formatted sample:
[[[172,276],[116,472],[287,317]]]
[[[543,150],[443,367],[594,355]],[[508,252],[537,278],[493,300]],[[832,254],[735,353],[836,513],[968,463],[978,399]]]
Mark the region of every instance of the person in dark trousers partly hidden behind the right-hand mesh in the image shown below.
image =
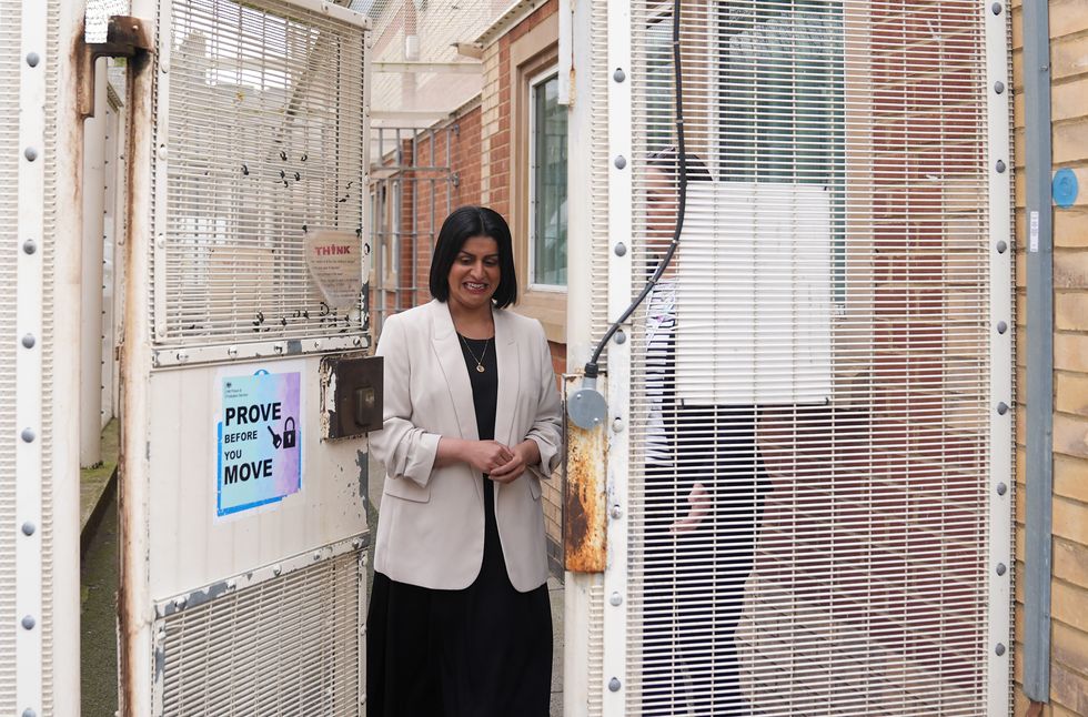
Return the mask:
[[[694,155],[685,163],[688,182],[713,181]],[[649,159],[651,251],[663,252],[676,226],[677,166],[675,149]],[[754,406],[692,404],[676,395],[677,281],[666,271],[646,299],[642,714],[728,717],[749,714],[736,629],[769,481],[756,448]]]

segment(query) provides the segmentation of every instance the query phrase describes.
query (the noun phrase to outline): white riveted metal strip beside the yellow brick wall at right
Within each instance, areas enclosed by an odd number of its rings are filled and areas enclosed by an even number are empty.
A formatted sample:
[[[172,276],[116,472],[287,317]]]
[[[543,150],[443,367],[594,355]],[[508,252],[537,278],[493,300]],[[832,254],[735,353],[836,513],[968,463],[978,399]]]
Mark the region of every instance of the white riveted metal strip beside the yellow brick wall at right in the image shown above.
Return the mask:
[[[995,13],[997,8],[1000,12]],[[1009,128],[1009,10],[979,3],[986,16],[986,97],[989,141],[990,255],[990,479],[989,639],[986,705],[989,715],[1008,715],[1013,684],[1013,154]],[[1001,169],[999,169],[1001,168]],[[1001,249],[1004,248],[1004,249]],[[1003,410],[1004,407],[1004,410]]]

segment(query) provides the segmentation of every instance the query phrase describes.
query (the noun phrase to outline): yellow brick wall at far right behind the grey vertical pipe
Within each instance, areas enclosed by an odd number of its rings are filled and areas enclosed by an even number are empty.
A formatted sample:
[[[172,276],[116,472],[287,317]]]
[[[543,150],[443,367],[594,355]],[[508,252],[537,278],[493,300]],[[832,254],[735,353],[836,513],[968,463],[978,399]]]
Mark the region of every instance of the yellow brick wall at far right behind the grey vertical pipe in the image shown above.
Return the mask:
[[[1016,238],[1018,306],[1017,567],[1024,569],[1026,255],[1022,13],[1014,3],[1016,92]],[[1077,172],[1080,194],[1054,209],[1055,413],[1054,572],[1051,577],[1050,704],[1038,713],[1088,715],[1088,2],[1051,0],[1050,68],[1054,169]],[[1016,595],[1016,714],[1029,714],[1021,688],[1022,582]]]

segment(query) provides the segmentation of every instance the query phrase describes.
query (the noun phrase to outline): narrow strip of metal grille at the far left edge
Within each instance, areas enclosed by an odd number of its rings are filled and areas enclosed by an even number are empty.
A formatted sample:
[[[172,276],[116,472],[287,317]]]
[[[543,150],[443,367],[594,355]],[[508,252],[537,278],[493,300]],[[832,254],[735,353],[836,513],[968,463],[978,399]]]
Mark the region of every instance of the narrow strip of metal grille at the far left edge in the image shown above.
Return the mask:
[[[19,30],[21,28],[20,0],[0,0],[0,87],[7,90],[0,95],[0,173],[18,176],[19,165]],[[9,188],[18,186],[14,181]],[[6,189],[0,192],[0,241],[8,248],[0,254],[0,282],[4,286],[18,285],[19,254],[19,193]],[[17,336],[16,302],[0,305],[0,333]],[[0,396],[13,408],[16,397],[16,341],[0,342]],[[16,421],[14,411],[0,414],[0,580],[6,586],[16,582]],[[0,711],[16,711],[16,593],[11,587],[0,590]]]

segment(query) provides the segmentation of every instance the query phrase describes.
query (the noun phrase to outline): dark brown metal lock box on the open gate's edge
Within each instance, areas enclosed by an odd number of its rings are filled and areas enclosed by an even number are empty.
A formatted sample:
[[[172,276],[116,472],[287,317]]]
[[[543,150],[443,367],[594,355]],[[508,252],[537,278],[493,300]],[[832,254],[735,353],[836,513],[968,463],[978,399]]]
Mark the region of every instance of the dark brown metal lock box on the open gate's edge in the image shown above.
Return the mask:
[[[321,360],[323,438],[352,438],[382,428],[382,356],[338,354]]]

